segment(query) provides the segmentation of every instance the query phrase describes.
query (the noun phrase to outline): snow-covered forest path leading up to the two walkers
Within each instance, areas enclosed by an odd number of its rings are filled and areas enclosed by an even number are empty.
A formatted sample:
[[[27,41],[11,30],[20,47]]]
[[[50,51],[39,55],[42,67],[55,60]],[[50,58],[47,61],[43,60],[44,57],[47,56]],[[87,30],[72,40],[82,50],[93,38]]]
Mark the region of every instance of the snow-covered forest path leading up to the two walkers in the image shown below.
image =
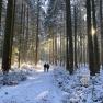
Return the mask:
[[[36,71],[27,80],[0,89],[0,103],[61,103],[61,92],[54,84],[53,70]]]

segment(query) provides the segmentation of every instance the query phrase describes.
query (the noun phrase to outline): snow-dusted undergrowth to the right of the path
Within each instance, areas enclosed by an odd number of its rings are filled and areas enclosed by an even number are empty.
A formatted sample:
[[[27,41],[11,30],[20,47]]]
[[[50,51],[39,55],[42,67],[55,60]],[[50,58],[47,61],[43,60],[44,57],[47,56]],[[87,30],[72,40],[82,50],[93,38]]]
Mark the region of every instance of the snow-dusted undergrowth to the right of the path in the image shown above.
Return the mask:
[[[64,92],[62,103],[103,103],[103,70],[90,79],[88,68],[70,76],[59,67],[54,70],[54,83]]]

